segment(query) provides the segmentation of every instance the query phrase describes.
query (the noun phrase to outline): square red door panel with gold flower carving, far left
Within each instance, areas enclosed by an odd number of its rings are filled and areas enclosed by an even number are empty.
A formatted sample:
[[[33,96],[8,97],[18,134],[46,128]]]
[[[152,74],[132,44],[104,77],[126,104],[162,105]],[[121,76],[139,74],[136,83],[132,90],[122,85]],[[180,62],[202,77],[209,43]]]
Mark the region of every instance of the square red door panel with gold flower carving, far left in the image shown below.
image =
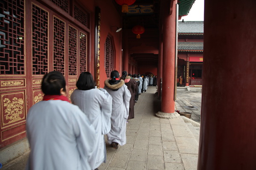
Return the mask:
[[[1,95],[1,127],[14,125],[26,119],[25,92]]]

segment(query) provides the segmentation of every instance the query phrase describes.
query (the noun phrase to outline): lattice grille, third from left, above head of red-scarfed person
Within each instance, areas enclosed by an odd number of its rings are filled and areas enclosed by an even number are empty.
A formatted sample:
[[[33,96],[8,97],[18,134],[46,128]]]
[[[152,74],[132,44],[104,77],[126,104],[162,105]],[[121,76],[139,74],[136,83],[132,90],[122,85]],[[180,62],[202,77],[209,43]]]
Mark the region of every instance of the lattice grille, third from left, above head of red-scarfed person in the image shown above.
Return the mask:
[[[53,70],[64,74],[65,23],[56,17],[53,19],[53,34]]]

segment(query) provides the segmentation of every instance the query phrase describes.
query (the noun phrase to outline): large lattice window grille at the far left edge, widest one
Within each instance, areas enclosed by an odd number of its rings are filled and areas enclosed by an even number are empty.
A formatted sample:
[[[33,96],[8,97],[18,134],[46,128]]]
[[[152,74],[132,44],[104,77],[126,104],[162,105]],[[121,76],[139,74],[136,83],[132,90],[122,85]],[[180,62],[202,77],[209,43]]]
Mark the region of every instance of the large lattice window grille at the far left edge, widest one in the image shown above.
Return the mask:
[[[25,74],[24,0],[0,2],[0,74]]]

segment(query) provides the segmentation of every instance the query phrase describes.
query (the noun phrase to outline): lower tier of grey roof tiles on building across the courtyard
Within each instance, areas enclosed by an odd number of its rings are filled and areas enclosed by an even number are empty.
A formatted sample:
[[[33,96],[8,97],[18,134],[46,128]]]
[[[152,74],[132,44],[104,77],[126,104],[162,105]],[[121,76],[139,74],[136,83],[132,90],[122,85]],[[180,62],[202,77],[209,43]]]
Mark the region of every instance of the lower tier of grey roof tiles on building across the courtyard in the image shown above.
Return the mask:
[[[178,51],[204,51],[204,42],[178,42]]]

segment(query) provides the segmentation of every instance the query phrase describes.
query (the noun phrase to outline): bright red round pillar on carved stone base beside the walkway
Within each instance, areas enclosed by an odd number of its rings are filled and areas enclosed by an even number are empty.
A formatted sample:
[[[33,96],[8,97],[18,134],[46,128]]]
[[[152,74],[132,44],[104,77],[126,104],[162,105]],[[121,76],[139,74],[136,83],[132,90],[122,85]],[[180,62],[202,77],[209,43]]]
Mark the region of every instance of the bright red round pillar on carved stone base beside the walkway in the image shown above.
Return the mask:
[[[176,43],[176,4],[170,0],[163,0],[163,81],[162,104],[157,117],[170,119],[178,117],[175,112],[175,43]],[[173,3],[173,4],[170,4]]]

